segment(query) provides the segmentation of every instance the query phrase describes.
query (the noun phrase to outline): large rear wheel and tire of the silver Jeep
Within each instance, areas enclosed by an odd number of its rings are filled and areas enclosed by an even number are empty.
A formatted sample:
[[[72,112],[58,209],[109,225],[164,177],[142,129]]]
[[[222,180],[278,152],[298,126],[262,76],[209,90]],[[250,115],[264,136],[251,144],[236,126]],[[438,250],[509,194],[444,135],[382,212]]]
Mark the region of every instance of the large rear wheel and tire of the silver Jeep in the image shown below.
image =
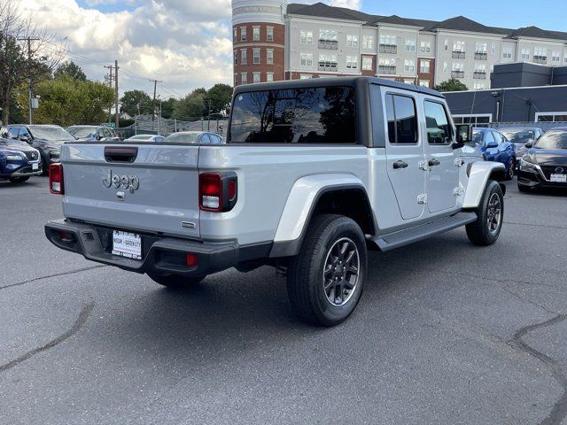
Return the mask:
[[[303,321],[338,325],[361,299],[366,270],[366,241],[358,224],[341,215],[315,216],[288,268],[291,305]]]

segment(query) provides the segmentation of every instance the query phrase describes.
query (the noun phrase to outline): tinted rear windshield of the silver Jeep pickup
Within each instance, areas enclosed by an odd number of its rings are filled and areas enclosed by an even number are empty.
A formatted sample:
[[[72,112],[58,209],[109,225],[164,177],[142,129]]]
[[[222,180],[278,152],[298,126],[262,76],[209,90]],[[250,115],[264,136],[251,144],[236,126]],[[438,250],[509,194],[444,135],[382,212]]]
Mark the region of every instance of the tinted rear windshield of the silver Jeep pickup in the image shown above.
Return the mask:
[[[354,90],[301,88],[239,94],[228,143],[356,143]]]

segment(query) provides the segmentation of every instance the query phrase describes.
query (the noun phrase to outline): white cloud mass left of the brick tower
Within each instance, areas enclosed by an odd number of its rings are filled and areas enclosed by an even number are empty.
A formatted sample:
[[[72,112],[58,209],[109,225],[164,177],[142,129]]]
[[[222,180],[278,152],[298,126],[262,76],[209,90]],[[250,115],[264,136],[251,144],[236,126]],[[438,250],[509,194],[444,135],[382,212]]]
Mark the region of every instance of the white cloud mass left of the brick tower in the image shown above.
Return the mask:
[[[88,0],[89,4],[124,4]],[[232,81],[230,0],[134,1],[130,11],[100,12],[75,0],[27,0],[20,7],[40,27],[67,38],[69,58],[89,78],[102,80],[103,65],[118,59],[120,91],[150,91],[164,81],[161,97]]]

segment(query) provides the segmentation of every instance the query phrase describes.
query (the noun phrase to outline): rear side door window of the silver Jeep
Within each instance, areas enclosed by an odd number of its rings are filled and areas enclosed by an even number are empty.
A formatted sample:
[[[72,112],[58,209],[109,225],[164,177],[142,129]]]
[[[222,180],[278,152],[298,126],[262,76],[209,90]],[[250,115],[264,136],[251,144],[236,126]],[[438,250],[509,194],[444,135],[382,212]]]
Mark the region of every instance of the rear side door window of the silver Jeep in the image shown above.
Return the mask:
[[[386,95],[386,116],[390,143],[417,143],[416,101],[413,97]]]

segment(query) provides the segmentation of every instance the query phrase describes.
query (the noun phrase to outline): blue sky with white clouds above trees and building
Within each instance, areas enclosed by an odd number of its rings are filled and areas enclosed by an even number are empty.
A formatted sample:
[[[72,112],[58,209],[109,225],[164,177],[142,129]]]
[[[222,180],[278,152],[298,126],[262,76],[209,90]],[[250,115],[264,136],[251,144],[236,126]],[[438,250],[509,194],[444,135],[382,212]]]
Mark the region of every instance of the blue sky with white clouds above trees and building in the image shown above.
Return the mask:
[[[183,97],[191,89],[217,82],[232,83],[230,0],[15,1],[40,27],[58,40],[66,39],[67,58],[82,66],[90,79],[103,81],[107,72],[103,66],[118,59],[120,92],[151,92],[151,79],[163,81],[158,85],[161,98]],[[535,25],[567,31],[565,1],[540,0],[537,7],[517,0],[324,3],[405,18],[443,20],[464,15],[493,27]]]

